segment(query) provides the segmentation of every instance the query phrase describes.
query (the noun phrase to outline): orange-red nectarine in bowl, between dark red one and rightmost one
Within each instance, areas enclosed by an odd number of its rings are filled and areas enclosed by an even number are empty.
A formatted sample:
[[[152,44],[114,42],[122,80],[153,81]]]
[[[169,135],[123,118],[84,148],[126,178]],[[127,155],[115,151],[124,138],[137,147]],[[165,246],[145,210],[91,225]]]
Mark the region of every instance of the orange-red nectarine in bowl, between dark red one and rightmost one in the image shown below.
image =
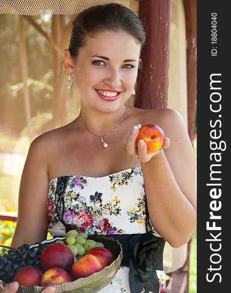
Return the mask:
[[[92,254],[86,254],[84,257],[77,260],[71,267],[70,273],[74,280],[85,278],[94,272],[99,272],[103,269],[98,258]]]

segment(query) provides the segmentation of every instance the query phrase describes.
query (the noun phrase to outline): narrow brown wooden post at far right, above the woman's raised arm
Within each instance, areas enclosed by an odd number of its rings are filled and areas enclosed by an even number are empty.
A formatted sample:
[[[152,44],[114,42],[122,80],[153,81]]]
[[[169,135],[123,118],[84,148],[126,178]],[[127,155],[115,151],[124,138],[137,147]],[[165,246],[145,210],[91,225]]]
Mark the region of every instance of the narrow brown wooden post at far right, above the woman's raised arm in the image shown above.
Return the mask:
[[[184,0],[187,39],[187,108],[188,135],[194,140],[196,121],[196,76],[197,76],[197,1]]]

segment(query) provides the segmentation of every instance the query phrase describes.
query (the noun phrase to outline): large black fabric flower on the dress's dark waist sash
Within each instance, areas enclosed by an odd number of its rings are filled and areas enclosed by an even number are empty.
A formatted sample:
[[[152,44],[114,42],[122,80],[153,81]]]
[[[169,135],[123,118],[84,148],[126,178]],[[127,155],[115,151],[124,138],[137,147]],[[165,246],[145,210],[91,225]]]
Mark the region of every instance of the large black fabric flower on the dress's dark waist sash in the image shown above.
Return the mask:
[[[162,248],[159,237],[150,234],[136,234],[129,239],[131,249],[129,286],[132,293],[141,293],[143,288],[159,293],[159,278],[156,267]]]

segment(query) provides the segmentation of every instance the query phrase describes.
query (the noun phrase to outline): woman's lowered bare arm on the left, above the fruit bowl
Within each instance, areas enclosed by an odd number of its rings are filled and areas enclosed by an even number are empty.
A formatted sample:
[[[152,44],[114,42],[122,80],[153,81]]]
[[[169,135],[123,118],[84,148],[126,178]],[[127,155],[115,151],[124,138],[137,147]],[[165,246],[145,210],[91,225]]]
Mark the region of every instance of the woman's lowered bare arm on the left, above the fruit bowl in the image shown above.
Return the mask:
[[[46,239],[50,149],[48,138],[47,134],[36,138],[28,151],[20,183],[18,220],[11,243],[13,248]]]

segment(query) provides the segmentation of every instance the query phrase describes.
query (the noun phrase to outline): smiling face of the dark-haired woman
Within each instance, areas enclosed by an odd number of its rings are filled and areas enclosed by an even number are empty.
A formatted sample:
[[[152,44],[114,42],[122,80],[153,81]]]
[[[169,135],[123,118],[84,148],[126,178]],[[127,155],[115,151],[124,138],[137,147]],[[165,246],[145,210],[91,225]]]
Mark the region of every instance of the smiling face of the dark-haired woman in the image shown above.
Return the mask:
[[[140,46],[125,32],[106,31],[88,38],[74,62],[82,104],[102,112],[120,108],[132,94]]]

